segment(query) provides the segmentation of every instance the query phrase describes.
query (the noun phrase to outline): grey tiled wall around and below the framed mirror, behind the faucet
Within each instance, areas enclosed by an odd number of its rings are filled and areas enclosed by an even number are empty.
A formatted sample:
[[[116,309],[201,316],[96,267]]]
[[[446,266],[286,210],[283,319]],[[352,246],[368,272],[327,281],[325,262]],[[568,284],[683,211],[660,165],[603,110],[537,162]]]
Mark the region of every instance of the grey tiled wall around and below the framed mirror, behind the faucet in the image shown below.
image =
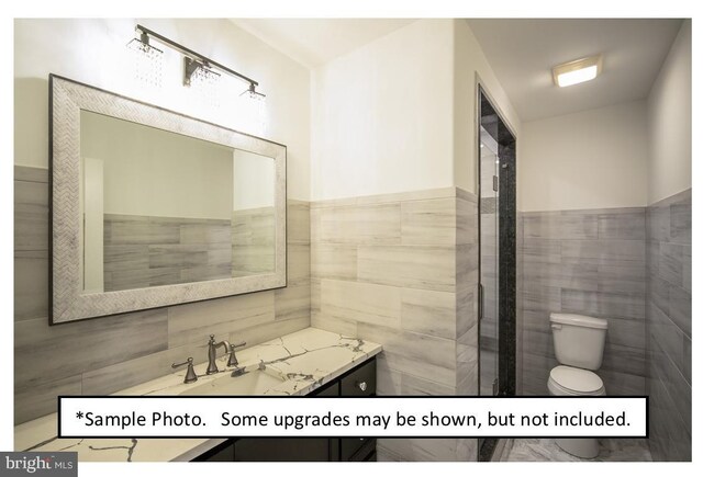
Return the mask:
[[[15,167],[15,423],[55,412],[59,394],[110,394],[203,362],[210,333],[254,345],[310,326],[310,205],[291,200],[288,287],[49,327],[48,195],[46,169]]]

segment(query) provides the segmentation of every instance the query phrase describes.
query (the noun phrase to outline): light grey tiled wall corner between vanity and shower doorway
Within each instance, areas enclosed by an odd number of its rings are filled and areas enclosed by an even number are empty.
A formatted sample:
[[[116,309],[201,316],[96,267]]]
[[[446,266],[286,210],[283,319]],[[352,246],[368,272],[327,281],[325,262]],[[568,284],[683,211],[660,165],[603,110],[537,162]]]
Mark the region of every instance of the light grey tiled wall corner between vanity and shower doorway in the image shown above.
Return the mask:
[[[476,394],[476,208],[454,188],[311,204],[312,326],[383,345],[379,395]],[[378,443],[391,461],[476,459],[470,448]]]

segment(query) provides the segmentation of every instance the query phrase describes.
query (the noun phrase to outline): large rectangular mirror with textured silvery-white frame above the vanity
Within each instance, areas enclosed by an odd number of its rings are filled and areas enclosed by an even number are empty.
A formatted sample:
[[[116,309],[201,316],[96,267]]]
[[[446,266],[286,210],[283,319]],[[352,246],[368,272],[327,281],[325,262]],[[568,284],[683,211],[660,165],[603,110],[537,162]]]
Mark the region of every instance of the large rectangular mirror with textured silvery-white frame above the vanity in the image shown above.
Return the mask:
[[[66,78],[52,322],[286,286],[286,147]]]

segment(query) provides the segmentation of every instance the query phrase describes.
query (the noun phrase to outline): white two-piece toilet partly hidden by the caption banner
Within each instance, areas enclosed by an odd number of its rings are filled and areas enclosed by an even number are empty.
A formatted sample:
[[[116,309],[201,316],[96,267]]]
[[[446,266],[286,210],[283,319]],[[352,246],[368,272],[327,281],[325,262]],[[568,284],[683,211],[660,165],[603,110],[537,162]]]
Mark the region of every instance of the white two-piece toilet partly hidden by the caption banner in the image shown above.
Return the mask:
[[[594,371],[603,362],[607,321],[583,315],[549,315],[554,351],[559,362],[549,372],[547,388],[551,396],[605,396],[603,381]],[[598,456],[598,440],[557,439],[557,445],[581,458]]]

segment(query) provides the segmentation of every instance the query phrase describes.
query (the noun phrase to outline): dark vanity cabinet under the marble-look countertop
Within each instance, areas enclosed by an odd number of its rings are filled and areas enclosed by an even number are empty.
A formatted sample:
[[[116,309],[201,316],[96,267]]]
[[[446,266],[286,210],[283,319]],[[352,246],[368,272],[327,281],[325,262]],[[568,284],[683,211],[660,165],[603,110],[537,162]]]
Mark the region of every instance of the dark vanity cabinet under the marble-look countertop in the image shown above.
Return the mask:
[[[376,396],[376,357],[315,389],[308,397]],[[231,439],[194,462],[370,462],[375,438],[244,438]]]

